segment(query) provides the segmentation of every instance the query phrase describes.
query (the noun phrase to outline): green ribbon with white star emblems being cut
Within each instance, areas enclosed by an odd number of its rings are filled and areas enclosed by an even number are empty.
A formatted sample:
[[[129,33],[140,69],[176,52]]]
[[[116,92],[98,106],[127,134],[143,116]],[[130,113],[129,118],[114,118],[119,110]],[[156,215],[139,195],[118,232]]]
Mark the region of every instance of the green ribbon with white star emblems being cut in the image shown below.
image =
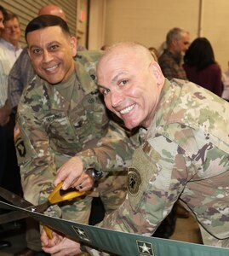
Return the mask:
[[[98,247],[108,253],[122,256],[228,256],[229,249],[209,247],[183,241],[135,235],[115,230],[79,224],[61,218],[49,217],[37,212],[30,212],[0,201],[0,207],[27,212],[37,221],[58,230],[77,241]]]

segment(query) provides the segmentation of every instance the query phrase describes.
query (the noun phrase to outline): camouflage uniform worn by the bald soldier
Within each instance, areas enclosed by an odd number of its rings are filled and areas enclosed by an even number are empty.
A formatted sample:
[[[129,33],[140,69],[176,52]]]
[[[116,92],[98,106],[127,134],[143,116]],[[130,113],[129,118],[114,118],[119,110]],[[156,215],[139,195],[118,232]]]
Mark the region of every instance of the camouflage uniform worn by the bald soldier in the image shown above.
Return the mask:
[[[135,150],[128,196],[102,227],[151,235],[179,198],[204,244],[229,247],[229,105],[202,87],[166,79]]]

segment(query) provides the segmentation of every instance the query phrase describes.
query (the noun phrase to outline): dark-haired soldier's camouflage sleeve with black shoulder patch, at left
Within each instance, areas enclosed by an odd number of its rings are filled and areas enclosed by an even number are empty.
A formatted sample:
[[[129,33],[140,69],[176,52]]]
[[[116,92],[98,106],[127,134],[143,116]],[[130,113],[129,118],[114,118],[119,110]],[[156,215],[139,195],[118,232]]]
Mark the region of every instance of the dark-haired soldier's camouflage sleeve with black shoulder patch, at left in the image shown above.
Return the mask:
[[[54,189],[52,183],[56,167],[49,137],[38,117],[39,109],[34,106],[20,102],[14,143],[24,197],[37,205],[45,201]]]

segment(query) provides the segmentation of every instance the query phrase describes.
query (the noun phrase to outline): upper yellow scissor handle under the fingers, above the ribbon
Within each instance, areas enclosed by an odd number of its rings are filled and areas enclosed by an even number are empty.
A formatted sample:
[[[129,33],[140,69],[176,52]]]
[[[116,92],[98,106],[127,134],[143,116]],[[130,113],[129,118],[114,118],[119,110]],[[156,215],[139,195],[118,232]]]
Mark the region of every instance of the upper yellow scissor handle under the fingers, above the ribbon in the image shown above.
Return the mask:
[[[85,191],[80,192],[80,191],[71,191],[71,192],[66,192],[66,194],[60,195],[60,189],[62,188],[63,183],[59,183],[55,188],[54,191],[49,195],[48,200],[52,204],[56,204],[60,201],[67,201],[67,200],[72,200],[73,198],[76,198],[80,195],[85,194]]]

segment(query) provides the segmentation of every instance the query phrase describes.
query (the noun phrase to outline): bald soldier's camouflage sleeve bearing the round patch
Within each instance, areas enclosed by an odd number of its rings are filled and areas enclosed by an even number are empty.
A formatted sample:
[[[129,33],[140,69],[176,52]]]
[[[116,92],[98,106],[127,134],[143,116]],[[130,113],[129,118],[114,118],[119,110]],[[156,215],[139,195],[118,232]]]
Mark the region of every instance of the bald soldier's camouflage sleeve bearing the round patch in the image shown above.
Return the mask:
[[[99,225],[152,235],[186,184],[186,160],[179,151],[175,143],[162,136],[137,148],[129,167],[126,200]]]

